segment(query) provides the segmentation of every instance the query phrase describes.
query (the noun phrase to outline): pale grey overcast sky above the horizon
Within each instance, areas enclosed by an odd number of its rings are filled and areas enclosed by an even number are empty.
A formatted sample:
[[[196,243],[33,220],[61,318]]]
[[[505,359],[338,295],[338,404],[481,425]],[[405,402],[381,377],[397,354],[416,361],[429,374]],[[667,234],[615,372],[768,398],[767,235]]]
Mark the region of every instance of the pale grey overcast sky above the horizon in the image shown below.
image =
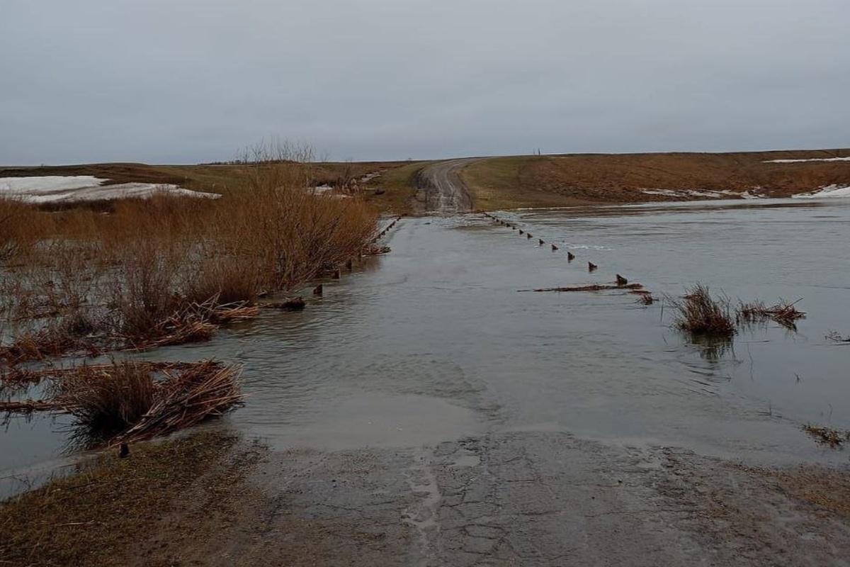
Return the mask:
[[[850,146],[848,0],[0,0],[0,164]]]

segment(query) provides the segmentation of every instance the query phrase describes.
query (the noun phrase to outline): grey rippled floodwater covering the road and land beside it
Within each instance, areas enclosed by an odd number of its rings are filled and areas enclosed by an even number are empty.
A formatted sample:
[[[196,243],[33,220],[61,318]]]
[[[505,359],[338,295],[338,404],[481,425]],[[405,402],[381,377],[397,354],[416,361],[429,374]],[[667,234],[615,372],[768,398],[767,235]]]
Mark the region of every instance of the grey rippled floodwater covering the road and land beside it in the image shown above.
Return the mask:
[[[542,430],[753,463],[847,462],[802,425],[850,428],[850,345],[825,337],[850,335],[850,201],[496,216],[534,238],[480,215],[405,218],[388,235],[393,252],[326,282],[325,297],[303,312],[263,312],[209,343],[144,358],[243,364],[246,405],[224,422],[273,448]],[[588,260],[599,266],[592,274]],[[520,291],[615,274],[656,297],[700,282],[733,300],[801,299],[807,318],[796,331],[742,329],[718,348],[672,329],[667,302],[644,307],[619,290]],[[14,478],[0,488],[20,490],[33,471],[57,466],[65,428],[13,419],[0,433],[0,477]]]

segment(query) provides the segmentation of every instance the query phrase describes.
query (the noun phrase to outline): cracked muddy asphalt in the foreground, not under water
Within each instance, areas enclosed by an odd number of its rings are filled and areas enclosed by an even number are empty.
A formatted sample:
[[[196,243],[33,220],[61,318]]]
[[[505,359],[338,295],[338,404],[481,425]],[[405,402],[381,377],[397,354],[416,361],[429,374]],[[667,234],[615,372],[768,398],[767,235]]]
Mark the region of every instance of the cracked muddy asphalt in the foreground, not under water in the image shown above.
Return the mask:
[[[207,530],[214,536],[179,548],[159,538],[164,547],[146,559],[430,567],[844,565],[850,557],[847,516],[769,473],[556,432],[268,452],[235,494],[227,518],[204,519],[218,523]]]

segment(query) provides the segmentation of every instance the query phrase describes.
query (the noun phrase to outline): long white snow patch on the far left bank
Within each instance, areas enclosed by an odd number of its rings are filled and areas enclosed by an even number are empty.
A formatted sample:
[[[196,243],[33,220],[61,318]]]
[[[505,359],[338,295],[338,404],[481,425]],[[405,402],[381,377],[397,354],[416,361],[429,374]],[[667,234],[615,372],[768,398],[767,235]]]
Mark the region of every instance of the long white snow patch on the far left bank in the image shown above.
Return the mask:
[[[0,196],[30,203],[111,201],[146,199],[154,195],[173,195],[218,199],[216,193],[183,189],[173,184],[121,183],[104,185],[106,179],[91,175],[44,175],[41,177],[0,178]]]

